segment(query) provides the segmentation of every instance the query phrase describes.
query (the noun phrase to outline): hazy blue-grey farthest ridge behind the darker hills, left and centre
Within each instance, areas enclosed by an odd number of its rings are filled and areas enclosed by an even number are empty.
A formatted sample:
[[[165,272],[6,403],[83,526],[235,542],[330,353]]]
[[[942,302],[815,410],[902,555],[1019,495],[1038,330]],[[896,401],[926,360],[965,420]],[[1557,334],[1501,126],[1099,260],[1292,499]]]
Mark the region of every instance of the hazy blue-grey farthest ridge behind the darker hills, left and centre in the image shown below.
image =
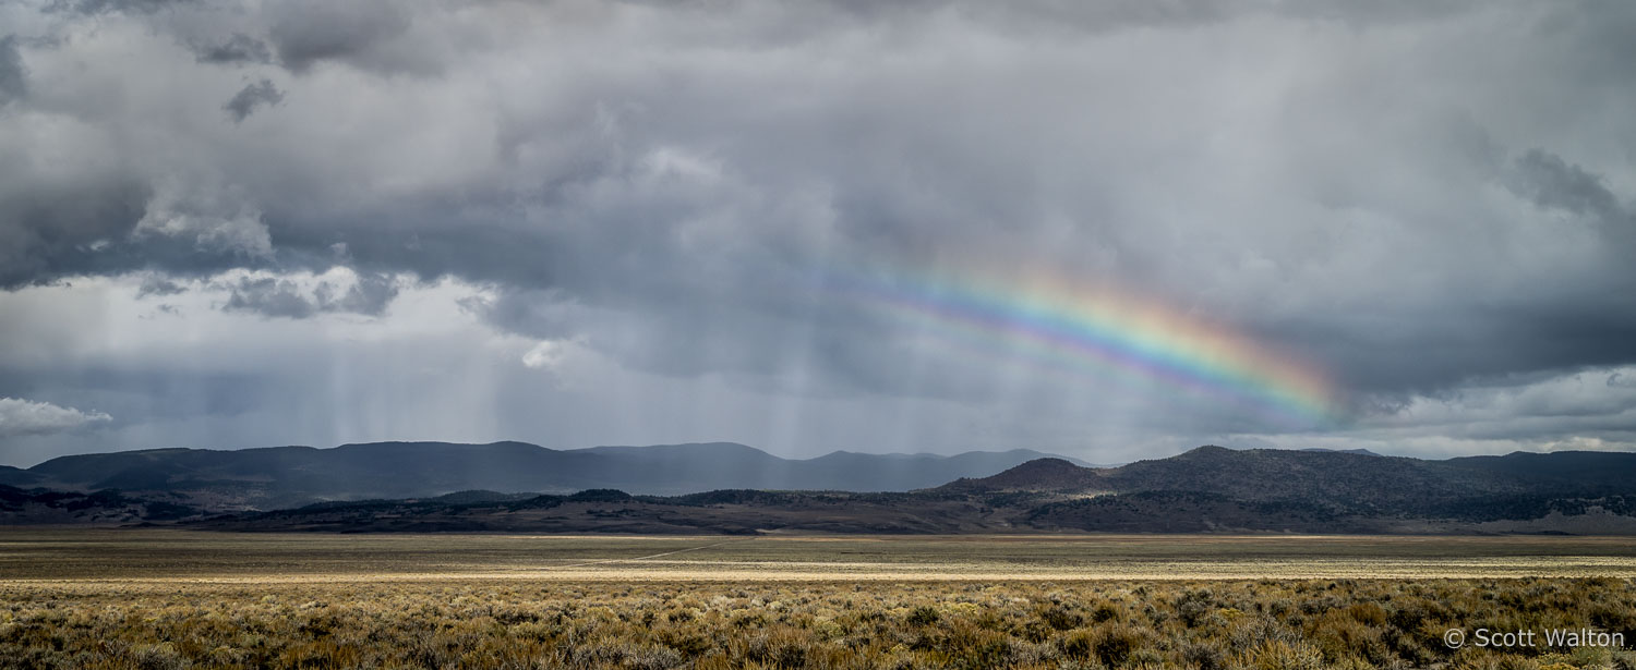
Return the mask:
[[[324,500],[420,498],[461,490],[569,494],[618,489],[677,495],[713,489],[910,490],[988,476],[1039,451],[861,454],[784,459],[733,443],[548,449],[501,441],[366,443],[332,449],[146,449],[62,456],[0,469],[0,484],[69,492],[187,494],[213,510],[273,510]]]

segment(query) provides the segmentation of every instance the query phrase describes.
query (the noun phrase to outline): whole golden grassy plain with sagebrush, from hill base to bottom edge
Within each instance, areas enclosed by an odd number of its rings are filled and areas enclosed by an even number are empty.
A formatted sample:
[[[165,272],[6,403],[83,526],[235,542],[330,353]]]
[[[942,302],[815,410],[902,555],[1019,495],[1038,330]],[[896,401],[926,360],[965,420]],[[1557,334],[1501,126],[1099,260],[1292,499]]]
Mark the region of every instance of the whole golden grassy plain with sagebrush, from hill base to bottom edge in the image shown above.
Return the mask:
[[[1636,668],[1623,538],[0,531],[0,668]]]

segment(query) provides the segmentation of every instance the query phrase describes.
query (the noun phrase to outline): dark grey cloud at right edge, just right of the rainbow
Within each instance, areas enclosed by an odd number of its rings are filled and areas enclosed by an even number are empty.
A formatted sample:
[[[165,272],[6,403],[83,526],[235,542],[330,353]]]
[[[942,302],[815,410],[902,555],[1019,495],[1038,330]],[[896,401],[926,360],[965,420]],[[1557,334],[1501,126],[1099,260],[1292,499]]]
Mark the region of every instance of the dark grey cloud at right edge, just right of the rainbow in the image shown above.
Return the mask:
[[[1497,180],[1538,208],[1538,221],[1526,234],[1494,226],[1495,237],[1458,252],[1451,242],[1443,266],[1423,270],[1445,271],[1448,286],[1405,296],[1427,302],[1423,312],[1399,320],[1382,309],[1319,312],[1270,330],[1302,333],[1306,346],[1342,364],[1351,387],[1382,392],[1436,392],[1472,379],[1528,382],[1533,373],[1636,361],[1636,273],[1626,270],[1636,217],[1607,178],[1528,149]],[[1528,261],[1561,240],[1577,240],[1580,253],[1561,265]],[[1521,247],[1528,243],[1541,247]],[[1482,284],[1463,284],[1463,275]],[[1415,327],[1404,325],[1410,319]]]

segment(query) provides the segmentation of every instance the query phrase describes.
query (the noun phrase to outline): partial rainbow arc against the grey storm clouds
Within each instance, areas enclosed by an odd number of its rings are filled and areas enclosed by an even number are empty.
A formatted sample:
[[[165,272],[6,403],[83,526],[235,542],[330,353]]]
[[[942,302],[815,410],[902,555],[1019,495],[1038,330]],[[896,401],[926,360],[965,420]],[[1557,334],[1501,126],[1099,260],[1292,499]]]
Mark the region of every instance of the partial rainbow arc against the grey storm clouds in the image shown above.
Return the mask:
[[[875,268],[828,276],[825,289],[931,327],[962,346],[1000,350],[1047,369],[1170,389],[1183,402],[1229,402],[1283,423],[1327,423],[1337,413],[1337,394],[1317,368],[1106,284]]]

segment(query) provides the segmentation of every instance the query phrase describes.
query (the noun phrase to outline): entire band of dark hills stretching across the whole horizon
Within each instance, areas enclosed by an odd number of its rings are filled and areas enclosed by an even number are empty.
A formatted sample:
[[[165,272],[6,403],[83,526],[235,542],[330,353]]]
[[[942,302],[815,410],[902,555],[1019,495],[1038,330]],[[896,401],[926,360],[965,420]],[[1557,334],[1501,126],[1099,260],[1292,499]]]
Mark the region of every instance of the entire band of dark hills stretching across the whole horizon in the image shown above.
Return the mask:
[[[149,521],[348,533],[1636,534],[1636,454],[1629,453],[1423,461],[1202,446],[1121,467],[1081,467],[1029,454],[836,453],[787,461],[743,444],[553,451],[520,443],[164,449],[72,456],[18,471],[39,480],[77,476],[105,490],[0,487],[0,525]],[[1019,462],[929,489],[833,490],[841,489],[833,482],[843,476],[869,487],[908,487],[903,482],[995,467],[1006,459]],[[456,485],[473,480],[504,485]],[[774,484],[713,485],[743,480]],[[556,482],[578,482],[576,492],[512,494]],[[713,490],[659,495],[615,482],[648,482],[649,490]],[[234,497],[234,490],[247,494]],[[422,494],[370,494],[383,490]],[[273,511],[249,508],[319,494],[330,495],[329,502]]]

